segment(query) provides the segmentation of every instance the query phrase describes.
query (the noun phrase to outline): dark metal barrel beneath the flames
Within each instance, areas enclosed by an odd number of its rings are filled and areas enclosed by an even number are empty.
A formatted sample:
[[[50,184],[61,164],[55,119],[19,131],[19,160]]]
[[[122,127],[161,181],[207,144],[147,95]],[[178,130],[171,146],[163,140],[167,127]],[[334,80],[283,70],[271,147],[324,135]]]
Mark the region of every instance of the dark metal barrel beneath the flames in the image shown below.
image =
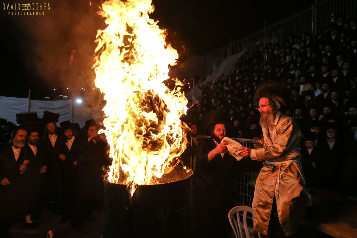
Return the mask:
[[[131,197],[125,184],[105,181],[105,238],[191,237],[192,170],[176,167],[160,184],[139,185]]]

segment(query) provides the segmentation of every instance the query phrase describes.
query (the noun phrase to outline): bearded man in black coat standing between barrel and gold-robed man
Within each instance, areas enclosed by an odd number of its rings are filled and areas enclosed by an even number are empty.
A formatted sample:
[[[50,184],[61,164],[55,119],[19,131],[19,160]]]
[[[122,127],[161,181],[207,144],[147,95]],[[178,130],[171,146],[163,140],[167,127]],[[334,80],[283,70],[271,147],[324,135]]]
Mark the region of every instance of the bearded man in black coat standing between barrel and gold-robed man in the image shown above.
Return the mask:
[[[226,117],[225,117],[226,116]],[[198,140],[193,174],[193,199],[195,211],[194,237],[228,237],[230,224],[227,214],[230,207],[230,179],[237,161],[226,153],[226,136],[229,116],[217,110],[207,115],[207,128],[211,138]]]

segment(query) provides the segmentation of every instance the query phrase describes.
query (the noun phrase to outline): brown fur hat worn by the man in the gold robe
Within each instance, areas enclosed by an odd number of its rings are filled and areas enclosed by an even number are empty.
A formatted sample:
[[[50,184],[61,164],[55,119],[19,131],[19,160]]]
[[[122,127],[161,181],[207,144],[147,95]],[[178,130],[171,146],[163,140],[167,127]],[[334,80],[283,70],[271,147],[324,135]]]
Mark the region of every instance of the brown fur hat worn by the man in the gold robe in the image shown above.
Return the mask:
[[[278,101],[281,106],[285,106],[288,98],[287,91],[288,90],[282,83],[261,83],[254,94],[254,104],[258,105],[260,98],[267,97]]]

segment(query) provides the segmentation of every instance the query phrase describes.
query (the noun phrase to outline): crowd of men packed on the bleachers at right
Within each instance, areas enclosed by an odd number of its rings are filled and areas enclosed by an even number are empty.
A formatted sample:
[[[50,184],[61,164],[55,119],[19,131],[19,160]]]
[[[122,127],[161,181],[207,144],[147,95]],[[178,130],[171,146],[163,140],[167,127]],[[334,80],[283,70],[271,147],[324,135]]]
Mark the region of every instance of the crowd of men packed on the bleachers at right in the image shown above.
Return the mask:
[[[202,84],[205,79],[206,75],[196,75],[189,81],[202,85],[202,98],[187,112],[199,135],[210,134],[205,127],[207,113],[224,109],[230,115],[228,137],[261,138],[253,95],[264,81],[281,82],[289,98],[284,112],[297,121],[303,134],[306,187],[357,196],[356,20],[339,17],[316,35],[287,34],[282,45],[273,41],[245,52],[229,75]]]

